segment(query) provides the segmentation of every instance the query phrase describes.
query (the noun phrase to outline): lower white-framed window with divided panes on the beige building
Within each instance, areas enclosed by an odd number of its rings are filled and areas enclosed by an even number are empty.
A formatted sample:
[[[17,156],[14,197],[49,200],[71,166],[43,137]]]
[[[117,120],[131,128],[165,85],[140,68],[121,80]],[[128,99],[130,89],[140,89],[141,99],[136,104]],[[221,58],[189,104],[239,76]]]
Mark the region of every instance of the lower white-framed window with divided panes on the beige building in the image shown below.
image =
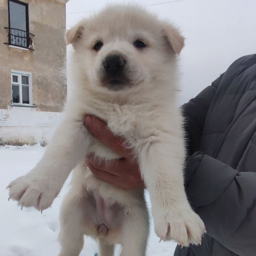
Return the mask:
[[[12,103],[32,105],[31,73],[12,71]]]

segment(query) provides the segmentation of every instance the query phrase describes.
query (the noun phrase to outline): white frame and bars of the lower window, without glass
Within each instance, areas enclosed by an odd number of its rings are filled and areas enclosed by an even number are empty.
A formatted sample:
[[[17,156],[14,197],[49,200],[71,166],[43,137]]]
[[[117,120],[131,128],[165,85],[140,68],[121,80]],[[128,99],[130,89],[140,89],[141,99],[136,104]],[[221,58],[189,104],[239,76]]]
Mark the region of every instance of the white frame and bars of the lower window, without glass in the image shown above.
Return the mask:
[[[12,81],[12,75],[18,76],[18,83]],[[22,103],[22,82],[21,82],[21,76],[28,76],[28,91],[29,91],[29,104],[28,103]],[[25,71],[17,71],[17,70],[11,70],[11,92],[12,92],[12,84],[19,85],[19,94],[20,94],[20,103],[13,103],[13,105],[25,105],[25,106],[33,106],[32,102],[32,73],[31,72],[25,72]]]

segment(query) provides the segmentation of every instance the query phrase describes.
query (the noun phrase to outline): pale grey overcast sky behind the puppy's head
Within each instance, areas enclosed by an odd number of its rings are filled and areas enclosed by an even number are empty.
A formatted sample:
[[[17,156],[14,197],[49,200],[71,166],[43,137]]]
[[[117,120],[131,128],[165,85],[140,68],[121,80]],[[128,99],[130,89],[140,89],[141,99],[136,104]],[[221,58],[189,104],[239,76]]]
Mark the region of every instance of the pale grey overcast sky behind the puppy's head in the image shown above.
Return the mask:
[[[66,5],[67,28],[113,2],[128,1],[70,0]],[[234,60],[256,53],[255,0],[176,0],[165,4],[159,3],[169,1],[129,2],[149,5],[146,7],[149,11],[177,24],[185,36],[185,47],[180,54],[180,104],[210,85]]]

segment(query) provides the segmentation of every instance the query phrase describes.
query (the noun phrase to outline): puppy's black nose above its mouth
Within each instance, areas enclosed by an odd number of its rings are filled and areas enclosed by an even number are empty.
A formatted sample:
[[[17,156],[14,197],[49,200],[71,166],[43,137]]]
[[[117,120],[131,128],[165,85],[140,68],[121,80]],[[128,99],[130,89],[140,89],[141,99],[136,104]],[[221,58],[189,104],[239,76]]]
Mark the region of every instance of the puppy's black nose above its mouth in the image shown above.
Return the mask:
[[[119,55],[109,55],[104,60],[105,71],[110,75],[118,75],[123,70],[125,61]]]

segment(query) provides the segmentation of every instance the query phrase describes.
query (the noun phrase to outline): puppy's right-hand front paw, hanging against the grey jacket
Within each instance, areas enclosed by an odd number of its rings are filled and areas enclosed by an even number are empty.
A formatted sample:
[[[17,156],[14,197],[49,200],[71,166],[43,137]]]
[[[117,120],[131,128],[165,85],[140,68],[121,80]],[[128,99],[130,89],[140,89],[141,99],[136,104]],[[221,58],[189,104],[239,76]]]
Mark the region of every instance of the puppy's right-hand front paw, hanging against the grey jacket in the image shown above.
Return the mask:
[[[182,246],[201,244],[206,232],[201,218],[189,207],[186,212],[165,214],[155,221],[155,232],[161,240],[174,240]]]

